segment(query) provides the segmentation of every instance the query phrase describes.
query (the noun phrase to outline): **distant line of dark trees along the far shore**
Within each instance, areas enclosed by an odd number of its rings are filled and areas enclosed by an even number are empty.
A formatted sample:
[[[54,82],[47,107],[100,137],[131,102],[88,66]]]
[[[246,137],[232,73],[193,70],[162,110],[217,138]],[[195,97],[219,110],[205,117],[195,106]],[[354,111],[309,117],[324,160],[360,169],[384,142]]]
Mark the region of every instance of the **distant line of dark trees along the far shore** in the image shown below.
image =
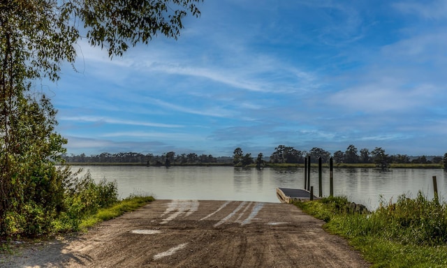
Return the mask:
[[[447,154],[442,156],[408,156],[406,154],[388,155],[381,147],[374,150],[358,150],[354,145],[349,145],[344,151],[335,151],[334,154],[324,149],[314,147],[309,151],[301,151],[293,147],[279,145],[274,149],[270,157],[258,154],[256,158],[251,154],[244,154],[240,147],[233,152],[233,157],[219,156],[214,157],[211,154],[175,154],[169,151],[161,156],[154,154],[140,154],[135,152],[126,153],[102,153],[91,156],[85,154],[64,155],[62,158],[67,163],[141,163],[146,165],[186,165],[186,164],[206,164],[220,163],[228,165],[250,165],[256,163],[263,165],[265,163],[305,163],[305,158],[310,156],[312,163],[317,163],[321,157],[323,163],[328,163],[332,157],[334,163],[376,163],[376,165],[388,165],[390,163],[416,163],[416,164],[440,164],[447,163]]]

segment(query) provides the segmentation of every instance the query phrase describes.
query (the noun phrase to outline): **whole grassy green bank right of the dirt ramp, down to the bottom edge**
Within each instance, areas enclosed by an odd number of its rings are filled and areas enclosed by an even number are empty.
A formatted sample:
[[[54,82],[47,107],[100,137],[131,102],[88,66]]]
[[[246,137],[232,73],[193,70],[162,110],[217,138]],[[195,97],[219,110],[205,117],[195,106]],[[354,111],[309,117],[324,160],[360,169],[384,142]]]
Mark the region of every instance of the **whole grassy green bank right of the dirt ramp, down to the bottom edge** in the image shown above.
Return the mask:
[[[346,198],[295,202],[326,221],[324,228],[349,240],[372,267],[447,267],[447,206],[401,195],[376,211],[352,213]]]

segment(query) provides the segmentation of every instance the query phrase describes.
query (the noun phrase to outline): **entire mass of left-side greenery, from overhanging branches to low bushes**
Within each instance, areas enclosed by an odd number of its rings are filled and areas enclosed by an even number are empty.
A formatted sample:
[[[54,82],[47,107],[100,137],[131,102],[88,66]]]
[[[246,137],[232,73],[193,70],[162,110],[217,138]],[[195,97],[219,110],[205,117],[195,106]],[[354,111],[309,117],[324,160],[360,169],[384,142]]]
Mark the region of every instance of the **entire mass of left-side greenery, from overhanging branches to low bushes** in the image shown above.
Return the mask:
[[[78,27],[91,45],[122,55],[157,34],[177,38],[184,17],[200,15],[200,2],[0,2],[0,237],[44,234],[54,219],[60,228],[76,226],[79,216],[116,201],[116,184],[94,184],[90,177],[67,183],[70,172],[53,163],[67,142],[54,131],[56,110],[31,92],[34,80],[54,82],[61,64],[75,61]]]

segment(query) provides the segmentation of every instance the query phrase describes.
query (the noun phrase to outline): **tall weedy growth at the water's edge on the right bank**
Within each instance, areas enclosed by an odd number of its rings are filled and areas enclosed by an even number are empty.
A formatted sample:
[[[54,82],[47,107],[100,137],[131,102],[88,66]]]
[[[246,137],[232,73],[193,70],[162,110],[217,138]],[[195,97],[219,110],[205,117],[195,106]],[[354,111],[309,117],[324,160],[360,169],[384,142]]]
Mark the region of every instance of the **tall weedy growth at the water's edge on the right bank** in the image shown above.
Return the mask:
[[[427,200],[419,192],[414,199],[400,195],[396,203],[381,200],[372,214],[332,214],[326,227],[346,237],[365,235],[402,244],[442,246],[447,242],[447,209],[446,204]]]

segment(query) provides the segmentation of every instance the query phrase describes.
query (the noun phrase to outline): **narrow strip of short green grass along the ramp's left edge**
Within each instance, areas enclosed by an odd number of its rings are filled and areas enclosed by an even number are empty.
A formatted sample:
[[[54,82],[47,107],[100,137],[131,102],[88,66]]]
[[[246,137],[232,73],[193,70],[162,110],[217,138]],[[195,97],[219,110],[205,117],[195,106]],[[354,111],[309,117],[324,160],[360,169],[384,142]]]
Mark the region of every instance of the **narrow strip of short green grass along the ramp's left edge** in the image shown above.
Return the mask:
[[[126,212],[135,211],[136,209],[139,209],[148,202],[152,201],[154,201],[152,196],[131,196],[117,202],[116,204],[112,205],[112,207],[99,209],[96,214],[87,216],[81,221],[80,228],[85,230],[86,228],[96,225],[97,223],[116,218],[117,216],[121,216]]]

